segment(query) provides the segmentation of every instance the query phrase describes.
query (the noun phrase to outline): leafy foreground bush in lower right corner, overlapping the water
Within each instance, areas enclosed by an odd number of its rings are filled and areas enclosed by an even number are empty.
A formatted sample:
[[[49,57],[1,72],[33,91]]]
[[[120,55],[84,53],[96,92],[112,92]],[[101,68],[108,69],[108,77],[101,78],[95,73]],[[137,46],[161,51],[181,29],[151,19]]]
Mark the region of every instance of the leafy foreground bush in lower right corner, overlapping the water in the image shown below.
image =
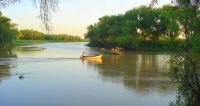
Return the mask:
[[[176,56],[172,59],[172,79],[177,83],[178,95],[172,106],[200,106],[200,57]]]

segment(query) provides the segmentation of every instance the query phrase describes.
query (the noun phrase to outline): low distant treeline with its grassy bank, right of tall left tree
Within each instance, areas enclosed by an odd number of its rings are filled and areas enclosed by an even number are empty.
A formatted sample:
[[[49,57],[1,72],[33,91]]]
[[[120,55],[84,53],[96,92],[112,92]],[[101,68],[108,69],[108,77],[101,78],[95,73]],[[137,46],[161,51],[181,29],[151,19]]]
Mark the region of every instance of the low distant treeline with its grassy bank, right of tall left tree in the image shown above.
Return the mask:
[[[20,30],[17,40],[14,41],[15,46],[55,43],[55,42],[85,42],[86,39],[81,39],[79,36],[67,34],[44,34],[34,30]]]

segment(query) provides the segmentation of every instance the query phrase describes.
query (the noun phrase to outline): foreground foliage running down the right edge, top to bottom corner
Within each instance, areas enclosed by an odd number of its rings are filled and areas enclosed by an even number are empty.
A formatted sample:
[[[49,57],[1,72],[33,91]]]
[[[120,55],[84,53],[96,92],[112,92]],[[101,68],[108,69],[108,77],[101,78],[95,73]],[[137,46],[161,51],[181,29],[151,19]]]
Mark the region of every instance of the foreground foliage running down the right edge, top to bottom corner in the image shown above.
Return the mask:
[[[177,84],[177,100],[171,106],[200,105],[200,32],[197,6],[183,6],[178,20],[187,40],[184,51],[171,59],[171,77]]]

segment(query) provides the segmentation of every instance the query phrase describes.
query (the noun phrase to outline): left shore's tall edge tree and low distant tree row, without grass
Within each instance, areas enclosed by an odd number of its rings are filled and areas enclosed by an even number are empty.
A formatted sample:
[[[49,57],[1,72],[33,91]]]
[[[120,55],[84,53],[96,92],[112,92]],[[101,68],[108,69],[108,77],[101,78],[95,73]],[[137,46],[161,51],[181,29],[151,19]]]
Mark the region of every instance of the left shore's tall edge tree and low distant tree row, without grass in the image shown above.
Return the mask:
[[[19,31],[17,24],[12,23],[0,12],[0,48],[12,46],[16,40],[83,41],[79,36],[67,34],[44,34],[34,30]]]

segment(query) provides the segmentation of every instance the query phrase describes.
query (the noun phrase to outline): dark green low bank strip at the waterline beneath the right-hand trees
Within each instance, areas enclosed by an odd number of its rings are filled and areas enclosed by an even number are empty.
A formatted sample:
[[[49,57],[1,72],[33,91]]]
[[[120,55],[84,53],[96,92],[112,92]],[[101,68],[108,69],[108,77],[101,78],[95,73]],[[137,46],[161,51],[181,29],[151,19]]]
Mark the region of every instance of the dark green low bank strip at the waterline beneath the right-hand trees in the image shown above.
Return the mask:
[[[113,43],[114,42],[114,43]],[[160,41],[129,41],[121,44],[120,42],[115,42],[115,40],[104,43],[90,42],[87,44],[88,47],[99,47],[111,49],[114,47],[124,48],[128,51],[139,51],[139,52],[168,52],[176,53],[182,50],[187,49],[187,46],[190,45],[185,40],[160,40]]]

